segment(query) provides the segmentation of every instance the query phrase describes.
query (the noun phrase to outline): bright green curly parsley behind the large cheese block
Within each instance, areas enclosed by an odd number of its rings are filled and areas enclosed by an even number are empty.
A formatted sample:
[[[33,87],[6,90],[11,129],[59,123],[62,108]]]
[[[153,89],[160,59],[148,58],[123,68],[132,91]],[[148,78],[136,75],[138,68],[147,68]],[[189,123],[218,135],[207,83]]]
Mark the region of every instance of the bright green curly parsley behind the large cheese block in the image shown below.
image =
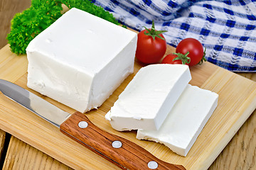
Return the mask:
[[[30,8],[22,13],[16,13],[11,20],[11,32],[6,37],[11,52],[17,55],[26,54],[28,43],[62,16],[62,4],[68,8],[79,8],[119,25],[111,13],[100,6],[95,6],[89,0],[32,0]]]

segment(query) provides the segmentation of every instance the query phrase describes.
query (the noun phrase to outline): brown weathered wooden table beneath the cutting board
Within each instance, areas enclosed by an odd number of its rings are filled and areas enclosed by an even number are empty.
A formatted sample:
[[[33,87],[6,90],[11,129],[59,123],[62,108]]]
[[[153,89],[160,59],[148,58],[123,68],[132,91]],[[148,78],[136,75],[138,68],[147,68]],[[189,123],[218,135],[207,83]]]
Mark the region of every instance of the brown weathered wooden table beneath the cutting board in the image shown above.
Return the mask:
[[[29,0],[0,0],[0,48],[7,43],[6,33],[9,32],[10,21],[14,13],[23,11],[29,6]],[[240,75],[256,81],[256,73]],[[242,125],[209,170],[256,169],[255,113],[256,111]],[[3,166],[3,169],[71,169],[3,130],[0,130],[0,153],[0,166]]]

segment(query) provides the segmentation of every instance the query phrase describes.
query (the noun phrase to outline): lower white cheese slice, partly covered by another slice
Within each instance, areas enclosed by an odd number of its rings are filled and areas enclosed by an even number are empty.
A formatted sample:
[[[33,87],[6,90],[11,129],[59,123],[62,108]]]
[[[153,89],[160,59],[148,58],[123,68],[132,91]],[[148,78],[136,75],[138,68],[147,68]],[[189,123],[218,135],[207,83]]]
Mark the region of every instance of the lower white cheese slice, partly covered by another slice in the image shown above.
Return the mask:
[[[137,139],[160,142],[186,157],[217,107],[218,94],[188,84],[159,130],[138,130]]]

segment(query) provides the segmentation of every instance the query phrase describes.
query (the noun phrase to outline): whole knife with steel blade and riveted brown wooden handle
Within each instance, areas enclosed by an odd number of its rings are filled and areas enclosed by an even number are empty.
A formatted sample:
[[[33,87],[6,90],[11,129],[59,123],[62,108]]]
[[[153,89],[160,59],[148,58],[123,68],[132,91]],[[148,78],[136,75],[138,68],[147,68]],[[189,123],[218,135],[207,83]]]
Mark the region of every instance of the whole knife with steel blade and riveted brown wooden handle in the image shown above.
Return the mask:
[[[4,96],[21,104],[29,111],[60,128],[60,132],[71,137],[93,152],[116,164],[121,169],[174,169],[186,170],[182,165],[170,164],[154,157],[139,145],[97,128],[87,116],[62,111],[36,94],[21,86],[0,79],[0,91]]]

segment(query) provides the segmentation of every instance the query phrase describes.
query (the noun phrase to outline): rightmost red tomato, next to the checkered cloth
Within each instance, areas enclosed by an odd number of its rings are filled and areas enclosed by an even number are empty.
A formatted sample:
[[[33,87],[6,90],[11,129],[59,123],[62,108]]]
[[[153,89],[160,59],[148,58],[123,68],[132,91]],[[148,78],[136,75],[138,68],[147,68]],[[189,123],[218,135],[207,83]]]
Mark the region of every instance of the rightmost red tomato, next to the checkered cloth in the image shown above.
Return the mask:
[[[201,42],[194,38],[185,38],[178,43],[176,47],[176,53],[185,55],[186,52],[189,52],[188,57],[191,58],[191,62],[188,64],[189,66],[196,65],[201,62],[201,60],[205,60],[203,45]]]

